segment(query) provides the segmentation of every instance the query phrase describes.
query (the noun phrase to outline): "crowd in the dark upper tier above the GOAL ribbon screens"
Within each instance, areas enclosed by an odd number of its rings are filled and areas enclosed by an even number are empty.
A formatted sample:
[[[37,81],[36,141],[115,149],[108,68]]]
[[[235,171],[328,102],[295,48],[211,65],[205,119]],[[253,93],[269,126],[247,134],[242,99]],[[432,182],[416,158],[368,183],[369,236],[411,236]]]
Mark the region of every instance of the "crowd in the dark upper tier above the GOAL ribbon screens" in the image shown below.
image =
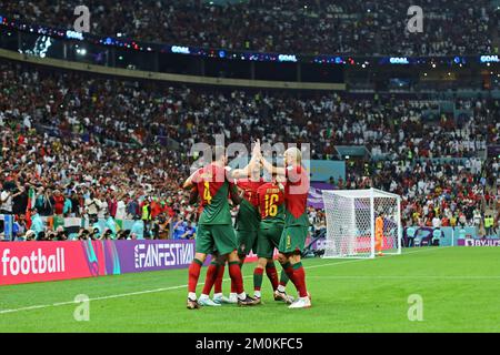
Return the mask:
[[[87,1],[92,34],[178,45],[281,53],[444,55],[492,53],[491,1],[420,1],[423,31],[406,30],[403,1]],[[0,1],[0,14],[72,29],[73,0]],[[397,20],[394,20],[397,19]],[[228,29],[231,29],[228,31]]]

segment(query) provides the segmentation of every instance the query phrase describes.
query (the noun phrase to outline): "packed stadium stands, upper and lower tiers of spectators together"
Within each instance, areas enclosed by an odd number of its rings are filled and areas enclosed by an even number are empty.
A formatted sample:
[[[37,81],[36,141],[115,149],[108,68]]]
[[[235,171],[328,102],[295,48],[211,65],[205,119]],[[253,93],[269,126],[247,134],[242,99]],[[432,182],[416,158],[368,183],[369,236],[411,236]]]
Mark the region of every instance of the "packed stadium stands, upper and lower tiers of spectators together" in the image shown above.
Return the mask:
[[[20,29],[19,52],[44,58],[52,43],[47,42],[44,51],[36,51],[40,37],[32,51],[22,51],[23,41],[29,42],[27,38],[33,31],[10,21],[72,30],[73,10],[79,4],[71,0],[0,1],[0,14],[9,18],[0,21],[6,26],[4,38],[0,38],[4,42],[0,43],[18,45],[7,37],[12,37],[12,29]],[[404,30],[406,3],[386,0],[334,4],[323,0],[250,0],[222,6],[177,0],[87,4],[92,9],[92,34],[153,43],[280,53],[398,55],[396,60],[404,63],[410,61],[400,55],[480,55],[498,47],[498,12],[487,0],[476,1],[473,7],[456,0],[421,2],[426,9],[423,33]],[[27,33],[22,33],[23,29]],[[71,41],[58,50],[68,59],[70,49],[82,53]],[[130,59],[123,59],[122,52],[113,53],[124,61],[121,68],[136,69],[127,64]],[[84,54],[80,57],[84,61]],[[161,67],[161,59],[152,60],[156,67]],[[469,61],[456,57],[449,65],[462,68]],[[179,186],[193,162],[188,152],[196,142],[212,144],[216,134],[223,134],[227,142],[261,138],[310,143],[311,159],[346,160],[346,179],[332,176],[326,182],[339,189],[372,186],[402,195],[403,225],[480,229],[486,217],[498,214],[500,155],[486,152],[488,146],[500,145],[500,95],[488,91],[461,94],[457,88],[494,89],[500,73],[490,72],[492,68],[478,69],[467,72],[467,78],[457,74],[461,80],[454,80],[456,72],[447,74],[444,68],[444,79],[434,74],[439,78],[429,81],[424,77],[437,63],[429,59],[426,68],[412,72],[421,80],[413,78],[417,81],[411,87],[401,84],[401,89],[400,83],[407,79],[398,79],[399,91],[391,92],[387,90],[393,89],[390,84],[378,84],[382,80],[393,82],[398,74],[390,77],[391,70],[380,65],[380,72],[389,77],[363,81],[357,75],[367,77],[362,70],[368,61],[357,63],[349,58],[340,62],[360,68],[346,80],[339,77],[348,90],[290,91],[257,84],[211,87],[182,80],[126,79],[92,70],[74,71],[71,65],[58,69],[3,59],[0,212],[19,216],[17,234],[21,239],[32,229],[29,206],[43,217],[103,219],[108,212],[117,220],[144,220],[147,237],[171,235],[174,231],[168,230],[181,223],[186,224],[182,237],[191,237],[194,230],[190,232],[188,224],[194,226],[198,211]],[[200,64],[203,71],[208,63]],[[107,65],[119,67],[112,60]],[[301,68],[306,71],[307,65],[310,63]],[[264,70],[264,77],[271,77],[277,68]],[[297,70],[299,79],[302,69]],[[252,79],[254,71],[252,67]],[[378,74],[374,68],[373,77]],[[217,75],[223,78],[223,71]],[[438,94],[436,89],[440,88],[454,91]],[[339,146],[362,148],[363,153],[352,159]],[[310,216],[312,231],[324,227],[321,211],[311,207]],[[38,232],[29,237],[40,239]],[[41,239],[50,235],[42,234]]]

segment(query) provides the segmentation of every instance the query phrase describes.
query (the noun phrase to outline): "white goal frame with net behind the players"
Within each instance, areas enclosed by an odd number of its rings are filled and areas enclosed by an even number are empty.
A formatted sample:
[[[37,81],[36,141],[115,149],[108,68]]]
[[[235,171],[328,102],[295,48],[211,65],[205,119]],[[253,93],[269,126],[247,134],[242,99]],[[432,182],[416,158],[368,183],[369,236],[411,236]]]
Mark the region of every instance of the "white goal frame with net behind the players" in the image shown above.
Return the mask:
[[[371,258],[401,254],[401,197],[377,189],[324,190],[323,257]]]

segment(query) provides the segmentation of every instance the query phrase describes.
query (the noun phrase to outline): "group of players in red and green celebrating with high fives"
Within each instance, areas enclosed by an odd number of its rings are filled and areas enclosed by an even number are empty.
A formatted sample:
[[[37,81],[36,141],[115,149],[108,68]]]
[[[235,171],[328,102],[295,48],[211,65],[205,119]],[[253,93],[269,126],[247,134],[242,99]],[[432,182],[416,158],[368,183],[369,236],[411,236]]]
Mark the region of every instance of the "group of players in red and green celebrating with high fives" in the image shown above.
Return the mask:
[[[272,165],[262,156],[260,142],[257,141],[249,164],[244,169],[231,169],[227,166],[223,148],[216,148],[214,161],[197,170],[183,183],[183,189],[191,191],[191,202],[199,199],[203,209],[198,222],[196,254],[189,266],[189,310],[223,303],[240,306],[260,304],[264,271],[276,301],[289,304],[290,308],[311,306],[301,263],[309,226],[309,174],[302,166],[299,149],[288,149],[283,160],[284,166]],[[264,172],[272,179],[264,181]],[[239,204],[234,226],[229,200]],[[280,277],[274,265],[274,247],[279,251],[278,261],[282,268]],[[251,251],[258,255],[253,271],[253,296],[244,292],[241,273],[244,258]],[[201,266],[208,255],[212,255],[211,264],[202,293],[197,298]],[[222,294],[226,264],[231,278],[229,297]],[[286,292],[289,281],[299,294],[296,300]],[[209,296],[212,287],[213,300]]]

